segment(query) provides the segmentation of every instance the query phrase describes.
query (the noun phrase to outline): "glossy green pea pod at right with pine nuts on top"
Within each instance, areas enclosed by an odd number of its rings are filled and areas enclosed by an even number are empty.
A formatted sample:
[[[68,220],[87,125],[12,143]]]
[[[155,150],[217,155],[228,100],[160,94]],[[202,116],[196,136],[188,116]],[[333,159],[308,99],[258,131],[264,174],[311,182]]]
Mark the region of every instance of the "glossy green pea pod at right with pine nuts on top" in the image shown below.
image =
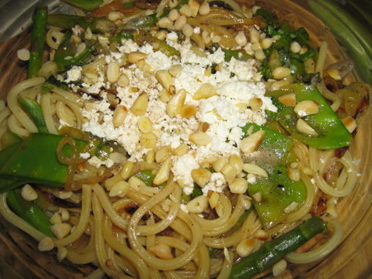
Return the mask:
[[[283,105],[277,99],[279,96],[288,93],[295,93],[297,103],[303,100],[313,100],[318,103],[318,113],[302,118],[316,130],[316,133],[318,133],[317,137],[305,135],[296,129],[298,117],[293,107]],[[339,117],[315,86],[290,84],[285,88],[269,92],[266,95],[272,97],[274,105],[278,107],[278,112],[275,116],[276,120],[286,128],[293,138],[317,149],[338,149],[350,145],[351,134],[343,126]]]

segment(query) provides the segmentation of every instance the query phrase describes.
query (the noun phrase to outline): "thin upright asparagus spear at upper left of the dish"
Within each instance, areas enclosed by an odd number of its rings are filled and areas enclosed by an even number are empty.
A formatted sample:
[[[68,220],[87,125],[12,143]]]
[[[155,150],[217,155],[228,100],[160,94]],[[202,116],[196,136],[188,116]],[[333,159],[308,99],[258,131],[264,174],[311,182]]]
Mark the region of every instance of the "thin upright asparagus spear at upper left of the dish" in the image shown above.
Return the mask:
[[[27,78],[36,77],[41,68],[42,50],[44,49],[48,10],[46,6],[36,7],[33,13],[33,30],[31,35],[31,55]]]

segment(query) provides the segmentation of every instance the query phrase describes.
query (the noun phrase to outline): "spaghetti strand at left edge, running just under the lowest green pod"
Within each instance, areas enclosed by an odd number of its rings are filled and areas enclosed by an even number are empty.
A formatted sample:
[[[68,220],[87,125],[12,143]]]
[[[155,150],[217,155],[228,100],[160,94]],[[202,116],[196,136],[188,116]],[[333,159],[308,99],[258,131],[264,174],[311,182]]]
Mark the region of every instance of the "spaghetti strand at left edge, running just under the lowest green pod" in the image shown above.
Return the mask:
[[[13,211],[10,210],[6,202],[6,193],[0,194],[0,213],[10,224],[15,225],[15,227],[22,229],[26,234],[31,235],[37,241],[45,238],[45,234],[39,232],[25,220],[17,216]]]

